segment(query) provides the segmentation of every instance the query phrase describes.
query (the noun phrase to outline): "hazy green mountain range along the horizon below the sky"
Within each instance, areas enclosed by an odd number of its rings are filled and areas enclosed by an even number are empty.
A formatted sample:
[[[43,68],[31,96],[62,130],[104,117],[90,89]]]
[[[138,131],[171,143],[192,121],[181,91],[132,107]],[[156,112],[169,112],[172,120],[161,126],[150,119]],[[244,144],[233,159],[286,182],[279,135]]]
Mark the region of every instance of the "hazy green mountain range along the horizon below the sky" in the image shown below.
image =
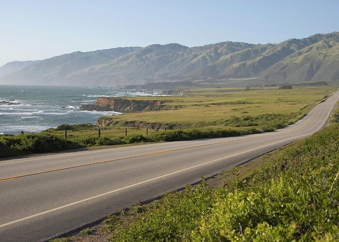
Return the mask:
[[[339,32],[278,44],[221,42],[74,52],[0,67],[0,84],[111,86],[185,80],[339,80]]]

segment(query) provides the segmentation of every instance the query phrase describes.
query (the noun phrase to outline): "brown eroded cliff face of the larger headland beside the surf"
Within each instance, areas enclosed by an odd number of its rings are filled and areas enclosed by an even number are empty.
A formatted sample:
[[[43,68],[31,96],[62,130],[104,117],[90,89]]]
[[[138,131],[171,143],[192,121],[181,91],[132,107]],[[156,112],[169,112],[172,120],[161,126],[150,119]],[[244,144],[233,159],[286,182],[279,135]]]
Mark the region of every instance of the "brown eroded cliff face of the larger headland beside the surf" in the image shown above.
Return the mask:
[[[112,97],[99,97],[94,104],[80,106],[80,110],[87,111],[114,111],[120,113],[169,110],[177,109],[181,106],[170,106],[164,101],[157,100],[136,100]]]

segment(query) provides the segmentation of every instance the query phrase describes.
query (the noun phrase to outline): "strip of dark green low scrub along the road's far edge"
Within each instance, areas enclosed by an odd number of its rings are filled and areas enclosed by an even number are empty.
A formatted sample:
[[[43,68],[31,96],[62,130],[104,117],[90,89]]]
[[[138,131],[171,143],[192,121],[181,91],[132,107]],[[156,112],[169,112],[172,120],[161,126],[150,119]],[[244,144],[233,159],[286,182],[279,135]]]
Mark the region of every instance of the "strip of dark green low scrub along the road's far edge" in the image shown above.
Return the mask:
[[[227,129],[185,129],[156,132],[146,135],[133,134],[127,136],[68,136],[46,132],[18,136],[0,136],[0,158],[33,153],[63,151],[92,146],[123,145],[139,142],[180,141],[199,138],[239,136],[260,133],[257,129],[243,131]]]

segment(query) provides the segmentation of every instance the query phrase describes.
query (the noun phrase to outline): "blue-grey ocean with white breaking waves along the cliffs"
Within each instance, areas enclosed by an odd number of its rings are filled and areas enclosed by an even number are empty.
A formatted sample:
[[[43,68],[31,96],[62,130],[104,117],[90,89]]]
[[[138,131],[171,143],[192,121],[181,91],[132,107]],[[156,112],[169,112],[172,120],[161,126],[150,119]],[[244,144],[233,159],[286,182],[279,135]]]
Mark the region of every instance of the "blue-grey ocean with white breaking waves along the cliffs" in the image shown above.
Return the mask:
[[[41,132],[61,124],[95,123],[98,117],[116,112],[81,111],[97,97],[157,96],[160,91],[95,87],[0,85],[0,134]],[[1,101],[15,105],[1,104]]]

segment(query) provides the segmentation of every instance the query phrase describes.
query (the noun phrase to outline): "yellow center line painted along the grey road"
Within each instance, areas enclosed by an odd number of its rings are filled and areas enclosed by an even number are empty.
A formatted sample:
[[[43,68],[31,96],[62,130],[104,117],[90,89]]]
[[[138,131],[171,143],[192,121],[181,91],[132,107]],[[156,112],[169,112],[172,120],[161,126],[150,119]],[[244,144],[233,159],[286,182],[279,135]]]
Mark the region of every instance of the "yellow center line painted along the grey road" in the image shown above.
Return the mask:
[[[272,134],[272,135],[265,135],[265,136],[276,136],[276,135],[282,135],[282,134],[287,134],[287,133],[298,131],[298,130],[306,127],[307,125],[309,125],[318,116],[319,116],[319,114],[315,118],[313,118],[311,121],[309,121],[307,124],[305,124],[304,126],[298,128],[298,129],[295,129],[295,130],[292,130],[292,131],[288,131],[288,132],[284,132],[284,133],[281,133],[281,134]],[[32,176],[32,175],[38,175],[38,174],[53,172],[53,171],[66,170],[66,169],[72,169],[72,168],[83,167],[83,166],[92,166],[92,165],[97,165],[97,164],[104,164],[104,163],[108,163],[108,162],[113,162],[113,161],[121,161],[121,160],[138,158],[138,157],[143,157],[143,156],[169,153],[169,152],[173,152],[173,151],[183,151],[183,150],[188,150],[188,149],[193,149],[193,148],[199,148],[199,147],[205,147],[205,146],[217,145],[217,144],[224,144],[224,143],[229,143],[229,142],[233,142],[233,141],[241,141],[241,140],[258,138],[258,137],[264,137],[264,136],[255,136],[255,137],[247,137],[247,138],[241,138],[241,139],[226,140],[226,141],[220,141],[220,142],[215,142],[215,143],[211,143],[211,144],[203,144],[203,145],[190,146],[190,147],[173,149],[173,150],[168,150],[168,151],[159,151],[159,152],[154,152],[154,153],[140,154],[140,155],[134,155],[134,156],[117,158],[117,159],[106,160],[106,161],[97,161],[97,162],[92,162],[92,163],[87,163],[87,164],[76,165],[76,166],[66,166],[66,167],[57,168],[57,169],[44,170],[44,171],[38,171],[38,172],[33,172],[33,173],[28,173],[28,174],[23,174],[23,175],[17,175],[17,176],[13,176],[13,177],[1,178],[0,182],[1,181],[13,180],[13,179],[20,178],[20,177],[27,177],[27,176]]]

